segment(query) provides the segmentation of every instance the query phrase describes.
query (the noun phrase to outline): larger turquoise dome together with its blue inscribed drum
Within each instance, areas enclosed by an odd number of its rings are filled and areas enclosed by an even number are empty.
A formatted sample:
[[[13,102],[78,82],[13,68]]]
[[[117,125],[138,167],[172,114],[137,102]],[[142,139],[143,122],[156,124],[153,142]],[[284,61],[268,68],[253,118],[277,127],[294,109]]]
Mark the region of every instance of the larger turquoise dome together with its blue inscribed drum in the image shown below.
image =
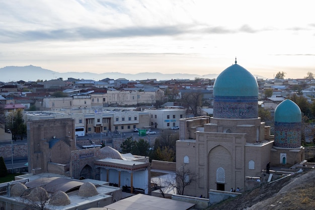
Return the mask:
[[[213,117],[252,119],[258,117],[258,84],[244,67],[227,67],[213,85]]]

